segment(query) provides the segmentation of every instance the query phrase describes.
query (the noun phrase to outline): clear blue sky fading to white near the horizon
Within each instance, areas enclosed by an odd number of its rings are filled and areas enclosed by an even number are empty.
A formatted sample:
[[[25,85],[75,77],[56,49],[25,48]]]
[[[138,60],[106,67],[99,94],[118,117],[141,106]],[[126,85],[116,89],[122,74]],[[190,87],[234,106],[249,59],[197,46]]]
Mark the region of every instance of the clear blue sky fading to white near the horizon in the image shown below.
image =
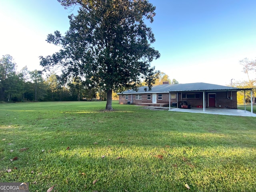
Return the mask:
[[[156,6],[152,45],[161,57],[152,62],[180,83],[228,85],[246,80],[239,60],[256,57],[255,0],[149,0]],[[57,0],[0,0],[0,56],[10,54],[20,70],[41,69],[38,56],[59,48],[47,34],[68,30]],[[75,11],[73,11],[75,12]]]

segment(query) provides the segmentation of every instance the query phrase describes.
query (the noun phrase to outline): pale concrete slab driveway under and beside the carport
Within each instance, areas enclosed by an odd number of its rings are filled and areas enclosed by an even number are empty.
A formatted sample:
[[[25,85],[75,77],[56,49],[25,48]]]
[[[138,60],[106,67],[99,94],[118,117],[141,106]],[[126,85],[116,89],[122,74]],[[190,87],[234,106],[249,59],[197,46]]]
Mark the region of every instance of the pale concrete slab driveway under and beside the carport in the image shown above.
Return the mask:
[[[189,112],[189,113],[204,113],[204,114],[216,114],[216,115],[232,115],[232,116],[247,116],[247,117],[256,117],[256,114],[251,114],[251,112],[240,109],[217,109],[217,108],[206,108],[203,111],[203,108],[191,108],[191,109],[180,109],[180,108],[171,108],[170,111],[178,112]]]

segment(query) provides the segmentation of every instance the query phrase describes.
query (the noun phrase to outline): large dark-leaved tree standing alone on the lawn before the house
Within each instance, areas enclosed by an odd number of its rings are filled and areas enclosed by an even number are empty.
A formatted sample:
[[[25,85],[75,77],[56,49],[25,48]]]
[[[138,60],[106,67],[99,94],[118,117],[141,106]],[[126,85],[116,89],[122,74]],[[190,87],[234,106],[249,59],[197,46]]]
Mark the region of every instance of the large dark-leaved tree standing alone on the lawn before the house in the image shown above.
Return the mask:
[[[70,28],[47,41],[62,48],[40,57],[41,66],[61,67],[60,80],[80,76],[88,88],[107,92],[106,110],[112,110],[112,91],[136,89],[145,79],[150,89],[156,71],[150,66],[160,54],[151,44],[154,34],[145,21],[153,22],[155,7],[148,0],[58,0],[65,8],[78,5]]]

